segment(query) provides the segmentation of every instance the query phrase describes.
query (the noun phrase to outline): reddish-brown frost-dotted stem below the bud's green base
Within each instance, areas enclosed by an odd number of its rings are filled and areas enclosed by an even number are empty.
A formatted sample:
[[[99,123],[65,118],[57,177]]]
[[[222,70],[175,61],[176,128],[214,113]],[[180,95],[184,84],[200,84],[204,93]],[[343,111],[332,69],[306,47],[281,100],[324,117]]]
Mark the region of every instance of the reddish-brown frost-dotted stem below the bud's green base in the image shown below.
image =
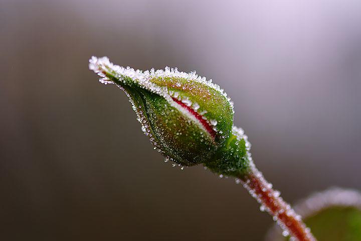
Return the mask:
[[[301,216],[283,201],[279,196],[280,192],[272,189],[272,184],[268,183],[255,167],[251,167],[249,174],[241,180],[249,193],[261,203],[261,211],[268,211],[273,216],[273,220],[281,226],[284,236],[290,235],[290,240],[316,241]]]

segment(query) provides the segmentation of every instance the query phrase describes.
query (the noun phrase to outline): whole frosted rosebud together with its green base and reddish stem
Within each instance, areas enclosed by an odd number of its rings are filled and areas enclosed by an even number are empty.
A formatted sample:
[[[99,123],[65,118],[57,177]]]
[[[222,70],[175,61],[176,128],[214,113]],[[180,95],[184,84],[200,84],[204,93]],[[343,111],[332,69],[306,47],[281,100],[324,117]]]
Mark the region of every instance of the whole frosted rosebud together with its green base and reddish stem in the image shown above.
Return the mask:
[[[106,57],[92,57],[89,62],[102,83],[125,91],[142,130],[166,161],[172,160],[181,169],[203,163],[220,177],[235,177],[261,203],[260,210],[277,220],[284,235],[316,241],[301,217],[255,167],[247,136],[233,127],[233,104],[218,85],[196,72],[176,68],[142,72],[114,65]]]

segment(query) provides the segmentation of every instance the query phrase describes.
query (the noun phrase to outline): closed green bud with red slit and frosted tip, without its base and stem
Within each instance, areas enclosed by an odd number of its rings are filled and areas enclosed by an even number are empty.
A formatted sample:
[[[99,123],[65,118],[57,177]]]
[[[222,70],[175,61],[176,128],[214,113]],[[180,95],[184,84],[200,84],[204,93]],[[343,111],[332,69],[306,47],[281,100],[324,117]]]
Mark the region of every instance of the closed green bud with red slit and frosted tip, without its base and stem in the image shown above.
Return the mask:
[[[143,72],[114,65],[106,57],[92,57],[89,68],[100,82],[125,91],[155,149],[177,164],[207,163],[232,133],[232,102],[196,72],[168,67]]]

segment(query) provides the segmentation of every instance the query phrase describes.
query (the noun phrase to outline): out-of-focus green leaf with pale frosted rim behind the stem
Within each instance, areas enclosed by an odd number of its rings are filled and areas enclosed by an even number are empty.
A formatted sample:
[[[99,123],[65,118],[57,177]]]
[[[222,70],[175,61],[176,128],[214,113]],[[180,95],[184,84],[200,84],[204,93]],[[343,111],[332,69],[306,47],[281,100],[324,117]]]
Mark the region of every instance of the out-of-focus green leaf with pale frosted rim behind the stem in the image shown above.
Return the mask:
[[[361,241],[361,194],[355,190],[332,188],[311,195],[295,205],[317,241]],[[267,241],[289,240],[277,226]]]

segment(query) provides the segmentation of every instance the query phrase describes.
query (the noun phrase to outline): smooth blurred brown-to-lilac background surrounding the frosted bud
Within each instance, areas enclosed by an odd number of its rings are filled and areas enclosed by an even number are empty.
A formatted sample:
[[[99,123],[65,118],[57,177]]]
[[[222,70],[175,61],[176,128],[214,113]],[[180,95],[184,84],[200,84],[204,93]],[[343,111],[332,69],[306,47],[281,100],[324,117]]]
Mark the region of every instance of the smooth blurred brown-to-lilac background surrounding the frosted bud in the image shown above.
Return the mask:
[[[240,185],[164,163],[92,55],[220,84],[290,202],[361,189],[361,2],[0,0],[2,240],[262,240]]]

